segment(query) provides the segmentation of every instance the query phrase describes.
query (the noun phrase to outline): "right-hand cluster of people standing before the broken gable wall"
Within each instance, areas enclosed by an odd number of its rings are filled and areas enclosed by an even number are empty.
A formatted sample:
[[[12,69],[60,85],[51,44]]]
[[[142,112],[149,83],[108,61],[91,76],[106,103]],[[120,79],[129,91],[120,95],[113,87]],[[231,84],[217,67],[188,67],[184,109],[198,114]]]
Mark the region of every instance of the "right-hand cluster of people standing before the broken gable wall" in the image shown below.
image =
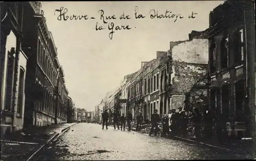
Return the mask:
[[[207,138],[212,137],[212,127],[214,126],[214,117],[212,113],[206,108],[203,114],[200,114],[199,109],[194,109],[192,114],[187,111],[182,111],[182,108],[172,109],[169,114],[164,114],[162,118],[157,114],[157,110],[154,110],[154,114],[151,115],[151,130],[150,136],[154,132],[155,136],[159,133],[159,123],[162,123],[162,136],[182,136],[186,138],[188,136],[188,124],[189,121],[194,124],[195,136],[200,139],[201,129],[203,127],[203,135]],[[217,133],[218,135],[218,133]]]

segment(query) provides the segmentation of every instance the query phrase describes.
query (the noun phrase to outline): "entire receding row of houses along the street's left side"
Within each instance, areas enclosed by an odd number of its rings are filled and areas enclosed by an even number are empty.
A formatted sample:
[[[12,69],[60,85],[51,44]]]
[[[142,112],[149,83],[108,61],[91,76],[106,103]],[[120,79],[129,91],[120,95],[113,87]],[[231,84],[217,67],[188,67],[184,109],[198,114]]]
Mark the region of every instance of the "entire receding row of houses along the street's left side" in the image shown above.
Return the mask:
[[[72,120],[75,105],[38,2],[1,3],[0,87],[2,133]]]

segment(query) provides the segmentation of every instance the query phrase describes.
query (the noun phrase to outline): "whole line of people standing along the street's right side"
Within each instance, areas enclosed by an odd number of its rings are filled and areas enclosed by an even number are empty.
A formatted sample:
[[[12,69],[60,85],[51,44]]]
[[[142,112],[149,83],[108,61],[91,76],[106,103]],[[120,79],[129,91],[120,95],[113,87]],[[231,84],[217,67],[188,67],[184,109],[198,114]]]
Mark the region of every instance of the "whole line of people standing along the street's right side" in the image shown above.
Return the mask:
[[[192,115],[189,115],[187,111],[182,111],[182,108],[178,108],[178,112],[176,109],[172,109],[169,114],[164,114],[162,118],[157,113],[157,109],[154,109],[154,113],[151,115],[151,129],[149,135],[152,133],[157,135],[160,132],[159,123],[162,123],[162,136],[182,136],[187,137],[188,135],[188,124],[193,121],[195,127],[195,136],[196,138],[201,137],[201,129],[203,125],[203,133],[205,137],[212,136],[212,126],[214,126],[214,118],[212,117],[211,112],[206,109],[203,114],[199,113],[199,109],[194,109]],[[108,121],[110,119],[110,115],[107,110],[105,110],[102,114],[102,129],[104,129],[104,125],[106,129],[108,129]],[[128,130],[131,131],[131,122],[133,121],[133,115],[131,111],[127,111],[127,115],[125,117],[124,114],[120,116],[119,111],[114,110],[112,114],[114,129],[119,130],[119,125],[121,126],[121,130],[125,130],[125,124],[127,122]],[[141,129],[141,125],[143,123],[142,113],[139,112],[137,116],[137,127],[136,131]],[[217,131],[218,132],[218,131]],[[217,133],[218,135],[218,133]]]

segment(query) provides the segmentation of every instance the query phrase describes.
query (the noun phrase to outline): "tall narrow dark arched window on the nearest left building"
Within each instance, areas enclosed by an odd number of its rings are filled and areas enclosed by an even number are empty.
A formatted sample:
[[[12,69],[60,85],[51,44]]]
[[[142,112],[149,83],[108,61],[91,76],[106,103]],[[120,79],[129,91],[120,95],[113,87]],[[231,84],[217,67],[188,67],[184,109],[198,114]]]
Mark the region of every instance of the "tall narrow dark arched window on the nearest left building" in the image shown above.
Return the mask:
[[[23,109],[23,98],[24,98],[24,70],[19,69],[19,85],[18,85],[18,102],[17,102],[17,113],[22,114]]]

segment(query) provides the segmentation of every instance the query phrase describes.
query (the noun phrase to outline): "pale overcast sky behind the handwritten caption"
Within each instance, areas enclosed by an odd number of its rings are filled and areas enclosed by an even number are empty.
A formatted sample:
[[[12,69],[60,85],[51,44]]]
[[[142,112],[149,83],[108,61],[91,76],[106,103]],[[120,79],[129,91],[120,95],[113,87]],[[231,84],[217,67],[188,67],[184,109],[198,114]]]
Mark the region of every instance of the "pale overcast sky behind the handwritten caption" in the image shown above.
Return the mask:
[[[188,39],[192,30],[203,31],[209,26],[209,12],[223,1],[174,1],[174,2],[41,2],[58,48],[58,59],[65,73],[69,96],[76,108],[94,111],[95,105],[105,94],[117,87],[124,75],[137,71],[141,61],[156,58],[156,51],[167,51],[169,41]],[[135,18],[135,8],[145,18]],[[67,8],[66,15],[88,15],[87,20],[58,20],[60,12]],[[166,10],[180,14],[183,18],[151,18],[155,9],[158,14]],[[100,20],[99,10],[104,16],[115,15],[116,19]],[[151,12],[150,12],[151,11]],[[130,15],[131,19],[120,19]],[[188,18],[191,13],[195,18]],[[55,15],[54,15],[55,13]],[[62,11],[63,13],[63,11]],[[170,14],[170,16],[172,15]],[[168,16],[168,14],[167,14]],[[95,19],[91,19],[94,17]],[[105,28],[96,31],[95,26]],[[129,25],[130,30],[119,30],[109,37],[109,23],[114,26]]]

